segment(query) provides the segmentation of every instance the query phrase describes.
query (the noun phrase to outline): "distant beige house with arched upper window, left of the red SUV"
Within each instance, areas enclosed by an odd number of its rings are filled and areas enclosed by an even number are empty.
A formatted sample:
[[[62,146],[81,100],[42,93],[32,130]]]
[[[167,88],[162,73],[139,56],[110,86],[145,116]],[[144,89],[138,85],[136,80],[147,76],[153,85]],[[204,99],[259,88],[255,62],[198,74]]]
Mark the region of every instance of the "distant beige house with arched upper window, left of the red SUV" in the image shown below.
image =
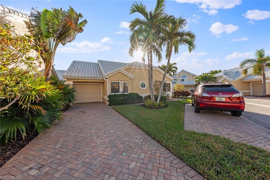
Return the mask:
[[[178,72],[175,76],[173,76],[173,85],[176,83],[183,84],[185,87],[185,91],[190,91],[191,89],[195,88],[195,78],[198,77],[197,75],[185,71],[182,69],[180,72]]]

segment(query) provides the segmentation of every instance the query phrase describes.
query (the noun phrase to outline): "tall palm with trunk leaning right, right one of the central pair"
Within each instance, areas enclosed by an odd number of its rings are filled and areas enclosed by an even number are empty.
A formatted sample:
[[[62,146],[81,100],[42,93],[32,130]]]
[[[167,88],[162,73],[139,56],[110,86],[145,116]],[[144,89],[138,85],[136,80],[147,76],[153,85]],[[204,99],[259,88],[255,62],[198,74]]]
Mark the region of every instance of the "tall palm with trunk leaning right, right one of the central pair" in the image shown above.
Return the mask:
[[[185,45],[188,46],[188,51],[191,52],[195,49],[195,39],[196,36],[191,31],[185,31],[185,27],[187,26],[187,21],[180,18],[174,17],[174,22],[167,24],[166,31],[164,31],[163,35],[159,40],[160,47],[166,46],[166,59],[167,66],[164,70],[164,74],[161,81],[161,87],[164,85],[166,73],[170,66],[171,54],[174,50],[175,54],[178,54],[179,46]],[[162,88],[160,88],[160,92],[158,94],[157,102],[160,101],[160,97],[162,94]]]

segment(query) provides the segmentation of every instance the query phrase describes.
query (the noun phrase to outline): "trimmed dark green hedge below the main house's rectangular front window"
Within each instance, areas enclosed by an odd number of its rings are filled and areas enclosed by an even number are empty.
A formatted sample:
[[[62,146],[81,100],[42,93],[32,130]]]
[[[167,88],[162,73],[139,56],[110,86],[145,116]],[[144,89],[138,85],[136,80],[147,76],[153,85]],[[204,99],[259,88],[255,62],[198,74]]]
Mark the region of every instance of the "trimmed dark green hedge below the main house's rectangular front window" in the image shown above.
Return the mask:
[[[127,94],[110,94],[109,106],[125,105],[125,104],[137,104],[143,102],[143,96],[136,92]]]

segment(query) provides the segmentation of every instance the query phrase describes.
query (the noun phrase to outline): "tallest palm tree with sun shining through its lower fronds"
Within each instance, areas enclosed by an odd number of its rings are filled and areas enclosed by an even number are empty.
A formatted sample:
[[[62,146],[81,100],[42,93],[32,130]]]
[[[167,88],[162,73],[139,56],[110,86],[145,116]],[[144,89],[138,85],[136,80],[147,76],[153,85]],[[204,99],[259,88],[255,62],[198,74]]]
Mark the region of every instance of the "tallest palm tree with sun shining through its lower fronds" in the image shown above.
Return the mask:
[[[165,13],[164,0],[157,0],[156,7],[150,11],[147,11],[146,5],[135,2],[130,7],[130,14],[135,12],[140,13],[144,19],[135,18],[130,22],[129,28],[132,34],[129,55],[133,57],[133,52],[139,49],[147,54],[149,90],[151,100],[154,101],[153,52],[158,57],[158,62],[161,61],[161,49],[157,46],[157,41],[163,34],[164,27],[173,22],[173,16]]]

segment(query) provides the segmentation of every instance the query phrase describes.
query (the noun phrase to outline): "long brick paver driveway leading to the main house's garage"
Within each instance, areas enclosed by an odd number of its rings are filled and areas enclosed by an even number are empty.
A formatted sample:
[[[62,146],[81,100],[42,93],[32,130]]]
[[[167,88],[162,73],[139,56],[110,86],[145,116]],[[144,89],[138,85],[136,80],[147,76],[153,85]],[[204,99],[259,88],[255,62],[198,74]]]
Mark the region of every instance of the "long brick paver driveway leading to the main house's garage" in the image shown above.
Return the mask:
[[[75,104],[1,168],[19,179],[203,179],[104,103]],[[190,178],[191,177],[191,178]]]

